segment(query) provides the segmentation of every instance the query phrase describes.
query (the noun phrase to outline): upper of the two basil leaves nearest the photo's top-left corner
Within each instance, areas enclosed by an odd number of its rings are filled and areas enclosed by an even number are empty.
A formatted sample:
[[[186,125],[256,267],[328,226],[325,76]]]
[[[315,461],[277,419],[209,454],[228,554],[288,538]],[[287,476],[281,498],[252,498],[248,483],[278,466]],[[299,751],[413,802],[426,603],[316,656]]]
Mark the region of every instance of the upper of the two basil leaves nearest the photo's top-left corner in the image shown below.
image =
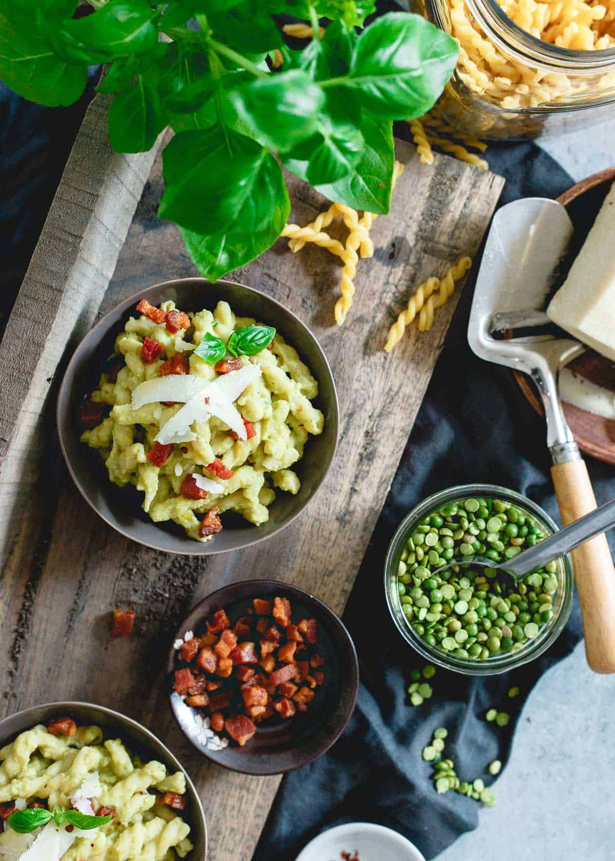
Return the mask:
[[[156,13],[146,0],[109,0],[93,15],[66,19],[48,38],[60,57],[105,63],[158,44]]]

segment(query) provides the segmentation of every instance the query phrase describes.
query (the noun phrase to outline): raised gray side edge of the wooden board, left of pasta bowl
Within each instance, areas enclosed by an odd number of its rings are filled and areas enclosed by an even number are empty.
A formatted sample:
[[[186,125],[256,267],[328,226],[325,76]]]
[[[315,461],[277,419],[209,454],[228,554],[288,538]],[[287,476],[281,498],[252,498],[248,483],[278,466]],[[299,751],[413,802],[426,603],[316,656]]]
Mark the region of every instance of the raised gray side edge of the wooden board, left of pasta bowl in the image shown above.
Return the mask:
[[[85,113],[0,344],[0,558],[29,517],[53,376],[96,316],[156,155],[113,152],[108,108],[99,95]]]

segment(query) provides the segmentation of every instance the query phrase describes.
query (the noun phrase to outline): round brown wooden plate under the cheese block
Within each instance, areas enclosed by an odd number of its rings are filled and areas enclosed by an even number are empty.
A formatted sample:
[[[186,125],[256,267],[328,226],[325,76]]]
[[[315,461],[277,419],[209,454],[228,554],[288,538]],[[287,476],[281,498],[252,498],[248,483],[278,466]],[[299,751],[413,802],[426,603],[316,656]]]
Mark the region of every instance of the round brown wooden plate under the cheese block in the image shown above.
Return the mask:
[[[568,210],[568,215],[575,225],[573,242],[576,251],[581,249],[593,219],[598,214],[606,193],[615,181],[615,168],[601,170],[587,177],[581,183],[576,183],[565,191],[557,200]],[[593,350],[587,350],[573,362],[568,369],[585,380],[610,389],[615,397],[615,362]],[[521,391],[536,412],[544,415],[543,405],[530,378],[525,374],[515,372],[515,377]],[[563,402],[563,412],[575,435],[579,448],[586,455],[597,457],[600,461],[615,464],[615,419],[603,418],[593,412],[580,409],[578,406]]]

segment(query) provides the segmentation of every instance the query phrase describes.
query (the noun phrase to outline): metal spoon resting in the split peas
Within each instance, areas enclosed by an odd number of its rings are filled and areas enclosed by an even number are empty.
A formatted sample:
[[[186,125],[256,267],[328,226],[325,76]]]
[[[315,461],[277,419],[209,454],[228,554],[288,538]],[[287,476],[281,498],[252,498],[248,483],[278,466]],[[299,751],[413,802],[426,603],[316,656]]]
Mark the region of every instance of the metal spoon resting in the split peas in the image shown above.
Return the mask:
[[[444,571],[445,568],[450,568],[454,565],[476,566],[494,568],[500,578],[512,580],[513,585],[519,583],[525,574],[531,573],[536,568],[543,567],[548,562],[559,559],[560,556],[567,554],[570,550],[574,550],[583,542],[589,541],[593,536],[599,535],[601,532],[606,532],[615,526],[615,499],[600,505],[599,508],[590,511],[585,517],[580,517],[574,523],[570,523],[563,530],[554,532],[552,536],[543,538],[534,547],[524,550],[518,556],[514,556],[510,560],[506,560],[504,564],[496,565],[493,560],[486,559],[484,556],[476,556],[468,561],[454,561],[449,565],[440,568]]]

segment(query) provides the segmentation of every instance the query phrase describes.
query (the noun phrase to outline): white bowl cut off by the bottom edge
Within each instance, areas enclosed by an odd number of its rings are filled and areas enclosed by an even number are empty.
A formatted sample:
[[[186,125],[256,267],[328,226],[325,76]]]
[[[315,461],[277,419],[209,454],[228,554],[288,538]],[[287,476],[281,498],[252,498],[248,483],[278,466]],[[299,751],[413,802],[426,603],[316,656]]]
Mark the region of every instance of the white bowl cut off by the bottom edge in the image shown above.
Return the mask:
[[[342,852],[357,852],[359,861],[425,861],[410,840],[373,822],[348,822],[324,831],[296,861],[341,861]]]

